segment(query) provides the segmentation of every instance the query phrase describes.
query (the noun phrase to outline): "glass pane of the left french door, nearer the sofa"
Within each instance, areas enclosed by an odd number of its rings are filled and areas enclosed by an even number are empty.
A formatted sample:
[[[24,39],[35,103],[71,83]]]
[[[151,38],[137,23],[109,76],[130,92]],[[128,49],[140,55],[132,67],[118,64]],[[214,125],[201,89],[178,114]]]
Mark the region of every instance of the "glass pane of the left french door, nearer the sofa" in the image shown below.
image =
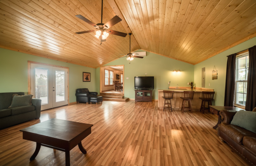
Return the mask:
[[[35,68],[36,99],[41,99],[41,104],[48,104],[48,70]]]

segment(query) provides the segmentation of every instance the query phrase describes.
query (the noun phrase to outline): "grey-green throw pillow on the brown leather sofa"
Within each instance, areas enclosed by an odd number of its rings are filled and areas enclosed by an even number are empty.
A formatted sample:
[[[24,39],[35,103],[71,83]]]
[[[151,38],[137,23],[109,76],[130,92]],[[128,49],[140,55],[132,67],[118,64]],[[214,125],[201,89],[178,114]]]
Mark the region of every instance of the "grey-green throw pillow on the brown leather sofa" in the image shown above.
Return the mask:
[[[231,124],[240,126],[256,133],[256,112],[240,110],[236,112]]]

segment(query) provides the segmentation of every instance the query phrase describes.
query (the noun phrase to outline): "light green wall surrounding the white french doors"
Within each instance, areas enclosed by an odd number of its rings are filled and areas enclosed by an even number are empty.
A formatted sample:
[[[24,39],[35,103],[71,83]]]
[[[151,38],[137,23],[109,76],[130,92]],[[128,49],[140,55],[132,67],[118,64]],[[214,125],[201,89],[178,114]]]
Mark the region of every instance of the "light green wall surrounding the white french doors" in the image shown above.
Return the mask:
[[[76,102],[76,89],[96,91],[96,69],[0,48],[0,92],[28,93],[28,61],[69,67],[69,102]],[[91,73],[91,82],[83,82],[83,72]]]

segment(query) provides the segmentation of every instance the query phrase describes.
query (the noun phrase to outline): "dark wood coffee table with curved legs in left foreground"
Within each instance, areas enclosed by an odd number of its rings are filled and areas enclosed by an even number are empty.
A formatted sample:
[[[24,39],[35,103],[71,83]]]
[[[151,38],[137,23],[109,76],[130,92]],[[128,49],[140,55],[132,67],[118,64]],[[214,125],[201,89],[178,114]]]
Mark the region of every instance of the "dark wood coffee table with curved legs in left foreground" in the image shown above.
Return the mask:
[[[36,142],[36,150],[30,161],[36,158],[40,147],[50,147],[65,152],[66,166],[70,165],[69,151],[78,145],[82,153],[86,150],[81,141],[91,134],[92,124],[50,119],[21,129],[23,139]]]

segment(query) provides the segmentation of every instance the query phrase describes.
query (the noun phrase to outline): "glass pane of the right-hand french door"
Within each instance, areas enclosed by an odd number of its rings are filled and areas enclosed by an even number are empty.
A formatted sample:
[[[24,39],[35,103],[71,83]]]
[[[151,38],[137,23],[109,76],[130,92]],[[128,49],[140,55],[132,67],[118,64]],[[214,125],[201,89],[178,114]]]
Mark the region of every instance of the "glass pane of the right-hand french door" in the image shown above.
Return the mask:
[[[56,75],[56,102],[61,102],[65,100],[65,72],[57,71]]]

